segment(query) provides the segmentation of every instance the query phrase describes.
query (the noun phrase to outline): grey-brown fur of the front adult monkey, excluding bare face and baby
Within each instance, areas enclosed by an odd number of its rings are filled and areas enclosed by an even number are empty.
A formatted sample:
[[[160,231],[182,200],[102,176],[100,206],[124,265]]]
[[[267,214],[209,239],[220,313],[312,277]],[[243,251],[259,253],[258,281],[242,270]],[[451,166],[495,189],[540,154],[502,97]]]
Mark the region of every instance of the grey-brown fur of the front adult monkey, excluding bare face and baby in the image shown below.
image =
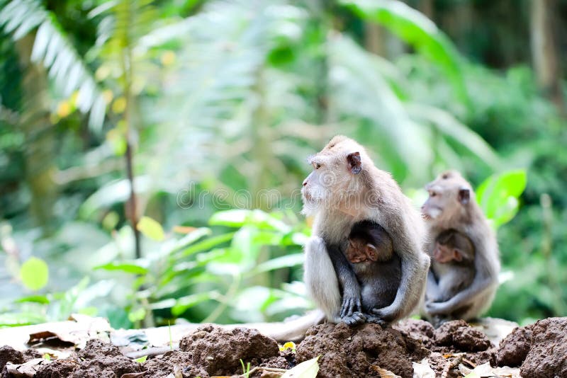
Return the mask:
[[[360,152],[361,172],[351,175],[347,171],[347,156],[352,152]],[[316,160],[318,159],[318,160]],[[423,251],[425,228],[420,214],[410,200],[403,195],[400,187],[389,173],[379,170],[369,159],[366,151],[357,142],[346,137],[337,136],[327,147],[313,157],[313,161],[327,165],[328,171],[336,174],[335,182],[330,190],[313,189],[315,193],[326,193],[329,196],[349,193],[349,206],[343,202],[318,202],[304,207],[305,212],[314,215],[313,237],[305,246],[305,285],[315,304],[320,307],[330,321],[341,319],[341,298],[337,273],[330,258],[328,246],[341,246],[347,240],[353,224],[361,220],[369,220],[380,224],[391,236],[393,250],[400,258],[400,287],[391,304],[373,309],[371,314],[381,321],[391,322],[408,316],[420,303],[425,292],[427,270],[430,258]],[[312,175],[317,171],[313,171]],[[320,182],[315,174],[307,179]],[[306,182],[307,182],[306,181]],[[305,183],[305,185],[307,185]],[[310,189],[304,186],[304,201]],[[318,241],[314,241],[314,240]],[[323,241],[321,243],[321,241]],[[335,248],[335,247],[332,247]],[[354,274],[354,273],[353,273]],[[356,288],[347,287],[345,292]],[[360,292],[360,288],[358,288]],[[352,294],[352,293],[350,293]],[[343,298],[344,299],[344,298]],[[360,303],[360,298],[358,298]],[[356,305],[354,309],[356,309]],[[353,321],[350,311],[347,322]],[[345,316],[343,316],[342,320]]]

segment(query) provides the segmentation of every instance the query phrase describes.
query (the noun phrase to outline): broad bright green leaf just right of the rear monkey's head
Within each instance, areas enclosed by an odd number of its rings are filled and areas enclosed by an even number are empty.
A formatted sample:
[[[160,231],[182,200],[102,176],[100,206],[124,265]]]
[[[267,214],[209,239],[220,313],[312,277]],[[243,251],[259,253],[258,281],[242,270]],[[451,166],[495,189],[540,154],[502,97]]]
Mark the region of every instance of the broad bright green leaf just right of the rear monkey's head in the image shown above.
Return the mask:
[[[520,169],[490,176],[478,185],[476,201],[495,228],[515,217],[526,184],[527,173]]]

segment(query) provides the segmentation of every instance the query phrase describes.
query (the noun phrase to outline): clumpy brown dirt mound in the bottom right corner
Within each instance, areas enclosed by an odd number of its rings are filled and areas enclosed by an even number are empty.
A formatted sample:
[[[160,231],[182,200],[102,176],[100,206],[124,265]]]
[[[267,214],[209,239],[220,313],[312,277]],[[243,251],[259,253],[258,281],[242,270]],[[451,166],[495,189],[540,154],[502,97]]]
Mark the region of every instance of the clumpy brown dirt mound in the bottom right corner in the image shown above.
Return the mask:
[[[567,377],[567,318],[515,328],[498,350],[500,366],[520,366],[524,378]]]

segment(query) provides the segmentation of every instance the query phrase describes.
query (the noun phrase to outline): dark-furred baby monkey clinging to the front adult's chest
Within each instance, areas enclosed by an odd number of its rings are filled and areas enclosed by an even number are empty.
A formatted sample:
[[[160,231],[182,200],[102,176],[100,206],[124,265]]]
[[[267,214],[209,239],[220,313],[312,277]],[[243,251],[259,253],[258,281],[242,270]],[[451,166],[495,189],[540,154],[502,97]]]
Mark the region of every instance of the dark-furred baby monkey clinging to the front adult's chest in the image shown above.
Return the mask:
[[[371,221],[353,225],[345,256],[361,287],[361,307],[366,320],[381,321],[372,309],[387,307],[395,299],[402,279],[401,261],[393,251],[392,239],[385,229]]]

